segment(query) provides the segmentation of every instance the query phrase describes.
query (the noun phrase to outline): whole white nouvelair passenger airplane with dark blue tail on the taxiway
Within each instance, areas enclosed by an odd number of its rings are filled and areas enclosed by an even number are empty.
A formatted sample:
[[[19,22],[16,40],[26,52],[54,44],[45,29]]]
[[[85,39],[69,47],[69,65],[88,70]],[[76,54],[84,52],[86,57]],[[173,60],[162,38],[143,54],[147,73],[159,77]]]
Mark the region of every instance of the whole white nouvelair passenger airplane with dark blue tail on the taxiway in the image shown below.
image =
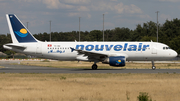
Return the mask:
[[[173,59],[177,52],[159,42],[42,42],[37,40],[15,14],[6,14],[12,43],[5,49],[40,58],[61,61],[98,62],[123,67],[126,61],[154,61]]]

